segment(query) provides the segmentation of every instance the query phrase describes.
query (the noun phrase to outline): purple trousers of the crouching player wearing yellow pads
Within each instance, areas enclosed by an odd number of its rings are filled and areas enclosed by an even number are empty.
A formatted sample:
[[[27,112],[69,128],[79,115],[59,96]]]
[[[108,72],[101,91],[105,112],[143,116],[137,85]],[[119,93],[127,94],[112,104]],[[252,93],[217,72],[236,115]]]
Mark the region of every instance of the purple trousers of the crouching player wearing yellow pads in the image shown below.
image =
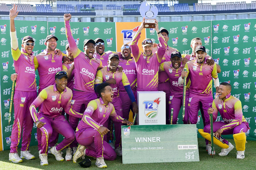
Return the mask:
[[[215,133],[218,129],[220,129],[222,126],[226,125],[227,123],[225,122],[213,122],[213,133]],[[237,133],[246,133],[249,129],[249,124],[248,122],[242,122],[240,125],[232,128],[232,129],[228,129],[226,131],[222,132],[222,135],[231,135],[231,134],[237,134]],[[207,124],[206,126],[204,126],[203,128],[204,132],[210,133],[211,132],[211,125]],[[228,145],[228,141],[226,139],[223,139],[223,142],[226,143]]]

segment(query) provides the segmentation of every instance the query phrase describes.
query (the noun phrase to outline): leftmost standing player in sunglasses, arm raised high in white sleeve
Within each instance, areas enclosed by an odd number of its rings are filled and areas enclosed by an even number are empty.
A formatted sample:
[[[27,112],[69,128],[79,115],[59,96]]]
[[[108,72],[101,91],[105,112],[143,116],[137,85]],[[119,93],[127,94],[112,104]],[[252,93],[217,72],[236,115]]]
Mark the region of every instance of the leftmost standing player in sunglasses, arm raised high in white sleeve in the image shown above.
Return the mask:
[[[13,4],[10,10],[10,33],[12,57],[14,60],[15,72],[18,72],[15,93],[14,93],[14,123],[11,135],[11,146],[9,160],[14,163],[23,162],[21,158],[34,159],[29,151],[31,139],[31,131],[33,128],[33,120],[29,115],[29,106],[37,97],[35,83],[35,68],[34,68],[34,40],[30,36],[25,36],[22,40],[22,49],[18,49],[18,39],[14,25],[14,19],[17,17],[17,5]],[[20,157],[17,153],[19,141],[22,134],[22,148]]]

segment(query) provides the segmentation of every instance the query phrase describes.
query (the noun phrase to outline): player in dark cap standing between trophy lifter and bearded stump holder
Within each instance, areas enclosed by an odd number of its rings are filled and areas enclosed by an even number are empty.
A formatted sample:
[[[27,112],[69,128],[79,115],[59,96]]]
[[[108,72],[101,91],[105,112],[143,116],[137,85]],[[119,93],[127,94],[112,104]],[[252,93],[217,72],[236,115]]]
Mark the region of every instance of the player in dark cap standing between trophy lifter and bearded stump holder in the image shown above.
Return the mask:
[[[178,114],[180,112],[181,106],[182,106],[182,100],[183,100],[183,84],[179,85],[178,80],[181,75],[181,72],[183,70],[183,66],[181,64],[181,53],[179,51],[174,51],[171,53],[171,61],[170,62],[164,62],[160,64],[159,71],[165,71],[168,75],[168,78],[170,79],[170,96],[169,99],[169,119],[171,120],[170,110],[173,108],[173,120],[172,124],[177,123]],[[188,79],[187,79],[188,81]],[[188,98],[189,91],[186,91],[186,97]],[[188,114],[187,114],[187,104],[185,106],[185,116],[183,123],[188,123]]]

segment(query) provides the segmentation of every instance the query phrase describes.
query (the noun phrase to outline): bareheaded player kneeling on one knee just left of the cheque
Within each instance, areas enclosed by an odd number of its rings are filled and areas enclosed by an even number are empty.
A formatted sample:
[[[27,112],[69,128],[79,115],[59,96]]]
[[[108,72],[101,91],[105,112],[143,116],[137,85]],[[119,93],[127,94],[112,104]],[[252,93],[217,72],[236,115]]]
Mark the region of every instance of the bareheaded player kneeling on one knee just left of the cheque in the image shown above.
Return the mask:
[[[87,155],[96,157],[95,165],[98,168],[106,168],[106,160],[114,160],[116,153],[112,147],[103,140],[103,135],[109,132],[109,129],[102,126],[110,117],[114,122],[126,123],[132,125],[132,122],[123,119],[115,112],[113,101],[114,91],[108,83],[101,83],[96,88],[100,98],[88,103],[82,120],[77,126],[75,133],[76,140],[80,144],[73,156],[73,162]]]

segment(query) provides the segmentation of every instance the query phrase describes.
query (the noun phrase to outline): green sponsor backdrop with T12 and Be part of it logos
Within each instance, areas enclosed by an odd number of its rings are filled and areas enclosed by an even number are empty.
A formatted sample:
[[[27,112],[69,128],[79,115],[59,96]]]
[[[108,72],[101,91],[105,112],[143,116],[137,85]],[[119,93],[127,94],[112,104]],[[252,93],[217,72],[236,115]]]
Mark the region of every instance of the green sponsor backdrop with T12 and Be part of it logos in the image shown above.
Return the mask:
[[[55,34],[59,41],[57,48],[61,51],[65,50],[67,43],[65,35],[64,22],[46,22],[33,21],[33,24],[27,21],[15,21],[19,49],[21,39],[30,35],[35,39],[34,54],[37,55],[44,50],[45,38],[48,34]],[[250,24],[248,24],[250,23]],[[105,51],[116,51],[116,29],[114,22],[102,23],[86,23],[86,22],[71,22],[71,29],[75,39],[79,38],[78,46],[83,51],[84,39],[102,38],[105,41]],[[217,25],[218,30],[217,29]],[[245,25],[244,25],[245,24]],[[216,62],[219,62],[222,72],[219,74],[221,82],[230,81],[232,85],[232,95],[239,97],[242,102],[243,114],[250,125],[250,131],[246,133],[248,140],[256,140],[256,19],[244,20],[225,20],[225,21],[191,21],[191,22],[159,22],[159,27],[164,27],[169,31],[168,45],[177,48],[182,53],[191,54],[190,41],[194,37],[200,37],[202,44],[209,50],[208,54],[212,55]],[[224,27],[224,25],[226,25]],[[3,149],[10,148],[10,136],[12,125],[8,126],[9,101],[11,98],[10,80],[11,74],[15,72],[13,67],[13,59],[11,56],[10,46],[10,21],[0,21],[0,55],[1,64],[1,123],[2,123],[2,142]],[[35,27],[36,26],[36,27]],[[246,26],[246,27],[245,27]],[[248,27],[250,26],[250,27]],[[55,27],[55,28],[54,28]],[[89,27],[89,29],[88,29]],[[126,28],[124,28],[126,29]],[[64,31],[64,32],[63,32]],[[158,43],[157,35],[154,30],[147,29],[146,35],[148,38],[154,38]],[[239,37],[238,37],[239,35]],[[237,41],[234,41],[234,37]],[[210,38],[208,38],[210,37]],[[248,39],[247,39],[248,37]],[[112,39],[111,39],[112,38]],[[209,43],[208,43],[209,40]],[[212,48],[211,48],[212,46]],[[226,53],[224,48],[229,47],[229,52]],[[65,51],[64,51],[65,52]],[[66,52],[65,52],[66,53]],[[245,64],[246,63],[246,64]],[[238,75],[234,75],[238,73]],[[237,71],[239,70],[239,71]],[[38,76],[38,72],[36,71]],[[38,87],[38,79],[37,87]],[[237,83],[236,83],[237,82]],[[246,100],[245,99],[245,97]],[[220,116],[217,120],[222,120]],[[12,119],[13,122],[13,119]],[[182,124],[182,115],[180,113],[177,123]],[[201,113],[198,114],[197,128],[203,128]],[[37,145],[36,128],[34,126],[31,137],[31,145]],[[201,137],[198,133],[198,137]],[[228,135],[232,138],[232,135]],[[60,139],[63,138],[60,136]]]

